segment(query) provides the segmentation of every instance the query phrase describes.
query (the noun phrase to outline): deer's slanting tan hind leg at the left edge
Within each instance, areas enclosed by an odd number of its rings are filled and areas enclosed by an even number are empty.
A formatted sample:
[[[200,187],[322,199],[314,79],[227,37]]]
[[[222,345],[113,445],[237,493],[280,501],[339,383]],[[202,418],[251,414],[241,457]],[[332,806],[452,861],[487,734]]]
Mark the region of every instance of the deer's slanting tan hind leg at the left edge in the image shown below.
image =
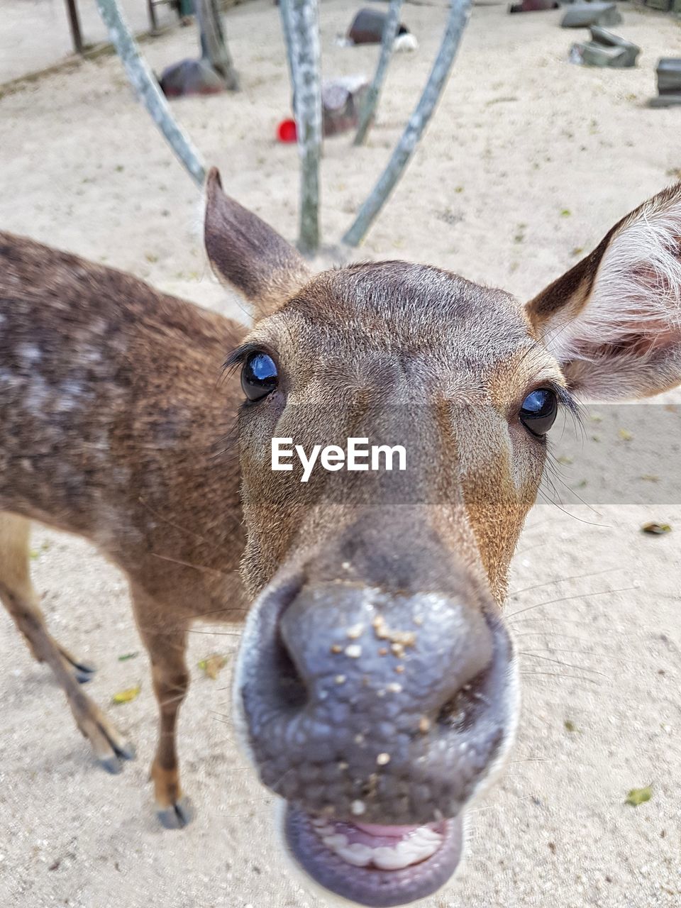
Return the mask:
[[[0,514],[0,599],[37,661],[52,669],[76,725],[92,745],[99,762],[110,773],[118,773],[120,760],[133,759],[134,749],[78,685],[74,669],[76,675],[91,674],[92,670],[59,646],[47,632],[29,575],[29,531],[30,524],[25,518]]]

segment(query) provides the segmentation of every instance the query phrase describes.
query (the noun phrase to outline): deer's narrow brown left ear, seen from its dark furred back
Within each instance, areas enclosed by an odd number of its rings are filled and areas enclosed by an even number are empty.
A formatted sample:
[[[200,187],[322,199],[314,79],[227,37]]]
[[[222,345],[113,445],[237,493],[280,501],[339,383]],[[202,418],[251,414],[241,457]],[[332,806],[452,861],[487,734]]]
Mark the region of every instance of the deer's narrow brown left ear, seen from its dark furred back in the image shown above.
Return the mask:
[[[279,233],[222,192],[215,167],[205,195],[203,242],[213,271],[253,303],[257,317],[270,314],[310,280],[311,271]]]

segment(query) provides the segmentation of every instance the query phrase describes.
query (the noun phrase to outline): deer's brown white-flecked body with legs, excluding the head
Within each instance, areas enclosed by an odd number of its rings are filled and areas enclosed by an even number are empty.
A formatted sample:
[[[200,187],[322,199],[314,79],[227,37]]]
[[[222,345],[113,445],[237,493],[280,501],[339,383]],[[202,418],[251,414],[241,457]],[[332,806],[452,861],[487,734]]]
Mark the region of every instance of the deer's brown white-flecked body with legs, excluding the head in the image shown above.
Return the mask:
[[[44,628],[27,521],[84,536],[123,569],[170,728],[185,628],[202,613],[243,614],[239,471],[224,453],[236,389],[220,382],[242,333],[129,275],[0,233],[0,597],[112,771],[131,748],[77,686],[74,669],[85,680],[88,667]],[[157,804],[182,823],[173,735],[162,745]]]

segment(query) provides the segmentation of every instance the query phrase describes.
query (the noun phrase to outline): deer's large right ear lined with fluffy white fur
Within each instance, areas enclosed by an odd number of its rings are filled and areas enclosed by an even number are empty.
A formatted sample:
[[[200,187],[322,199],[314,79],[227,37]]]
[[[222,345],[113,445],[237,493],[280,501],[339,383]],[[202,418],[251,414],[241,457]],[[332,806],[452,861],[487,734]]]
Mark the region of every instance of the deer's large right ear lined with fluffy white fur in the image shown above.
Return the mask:
[[[616,224],[528,316],[578,397],[647,397],[681,383],[681,183]]]

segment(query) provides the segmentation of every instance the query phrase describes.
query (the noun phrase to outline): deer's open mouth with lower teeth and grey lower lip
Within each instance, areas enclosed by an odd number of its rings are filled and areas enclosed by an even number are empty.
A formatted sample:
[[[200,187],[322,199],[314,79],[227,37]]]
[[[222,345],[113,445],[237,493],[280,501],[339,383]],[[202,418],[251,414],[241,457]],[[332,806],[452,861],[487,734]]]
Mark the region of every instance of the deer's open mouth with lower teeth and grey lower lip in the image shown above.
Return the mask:
[[[456,871],[463,850],[458,817],[415,826],[350,823],[306,814],[288,805],[288,850],[301,869],[326,890],[388,908],[436,892]]]

